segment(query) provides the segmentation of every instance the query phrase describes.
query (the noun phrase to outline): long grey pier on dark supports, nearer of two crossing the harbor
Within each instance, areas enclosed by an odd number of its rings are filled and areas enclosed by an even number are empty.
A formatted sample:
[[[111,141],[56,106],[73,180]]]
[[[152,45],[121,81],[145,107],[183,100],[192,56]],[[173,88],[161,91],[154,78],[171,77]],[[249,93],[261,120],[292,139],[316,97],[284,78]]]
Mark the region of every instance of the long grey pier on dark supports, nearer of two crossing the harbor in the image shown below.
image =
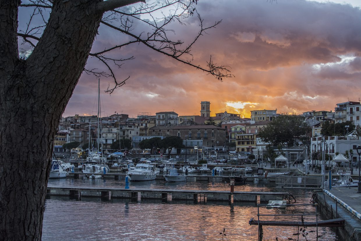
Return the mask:
[[[179,189],[139,189],[139,188],[93,188],[93,187],[47,187],[47,195],[68,196],[70,198],[81,199],[82,197],[99,198],[124,198],[138,201],[138,194],[142,199],[160,199],[171,200],[189,200],[196,202],[198,200],[207,201],[227,201],[227,202],[268,202],[269,200],[283,200],[290,193],[287,192],[269,192],[269,191],[211,191],[211,190],[179,190]],[[169,195],[169,196],[168,196]]]

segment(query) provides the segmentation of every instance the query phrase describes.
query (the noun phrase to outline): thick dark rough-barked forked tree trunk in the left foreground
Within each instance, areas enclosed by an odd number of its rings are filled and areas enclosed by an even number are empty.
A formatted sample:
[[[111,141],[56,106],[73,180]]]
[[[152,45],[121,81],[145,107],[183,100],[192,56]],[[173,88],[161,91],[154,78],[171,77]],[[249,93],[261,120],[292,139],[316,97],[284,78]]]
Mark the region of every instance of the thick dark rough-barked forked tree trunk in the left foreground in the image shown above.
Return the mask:
[[[18,2],[1,1],[2,35],[16,34]],[[14,55],[16,38],[0,43],[1,240],[41,240],[53,141],[99,27],[97,3],[55,0],[27,60]]]

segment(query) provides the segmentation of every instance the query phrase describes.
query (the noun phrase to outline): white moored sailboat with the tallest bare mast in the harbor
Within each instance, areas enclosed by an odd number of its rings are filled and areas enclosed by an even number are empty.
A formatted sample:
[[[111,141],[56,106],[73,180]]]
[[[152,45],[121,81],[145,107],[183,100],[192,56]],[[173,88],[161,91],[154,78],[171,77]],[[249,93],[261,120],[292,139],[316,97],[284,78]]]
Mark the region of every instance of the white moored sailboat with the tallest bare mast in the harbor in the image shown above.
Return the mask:
[[[100,79],[98,79],[98,125],[97,125],[97,149],[96,151],[92,150],[90,151],[90,124],[89,124],[89,147],[88,147],[88,158],[87,161],[91,163],[87,163],[83,165],[83,173],[87,174],[99,174],[99,173],[108,173],[109,167],[105,164],[105,158],[103,157],[103,148],[102,145],[100,146],[100,152],[99,150],[99,141],[101,141],[101,111],[100,111]],[[100,137],[99,137],[100,136]]]

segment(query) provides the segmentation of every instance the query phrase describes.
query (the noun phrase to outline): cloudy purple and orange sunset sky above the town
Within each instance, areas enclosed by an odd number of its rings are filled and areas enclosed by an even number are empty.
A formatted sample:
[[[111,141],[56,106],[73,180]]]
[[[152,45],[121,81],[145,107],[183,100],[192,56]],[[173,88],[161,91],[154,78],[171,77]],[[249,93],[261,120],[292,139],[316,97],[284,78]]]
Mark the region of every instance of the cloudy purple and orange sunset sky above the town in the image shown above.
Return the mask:
[[[118,80],[130,78],[111,95],[102,91],[102,116],[200,115],[201,101],[211,103],[211,116],[227,111],[250,117],[257,109],[298,114],[334,111],[336,103],[361,98],[361,1],[199,0],[196,7],[204,26],[222,22],[194,44],[192,63],[205,67],[212,55],[214,63],[230,66],[234,77],[220,82],[142,44],[127,46],[111,55],[135,57],[113,69]],[[199,22],[194,15],[184,23],[172,24],[170,36],[189,43]],[[136,22],[133,29],[147,31]],[[101,26],[92,52],[129,39]],[[86,68],[104,67],[89,59]],[[97,81],[82,74],[64,117],[95,114]],[[100,78],[101,90],[108,84],[112,79]]]

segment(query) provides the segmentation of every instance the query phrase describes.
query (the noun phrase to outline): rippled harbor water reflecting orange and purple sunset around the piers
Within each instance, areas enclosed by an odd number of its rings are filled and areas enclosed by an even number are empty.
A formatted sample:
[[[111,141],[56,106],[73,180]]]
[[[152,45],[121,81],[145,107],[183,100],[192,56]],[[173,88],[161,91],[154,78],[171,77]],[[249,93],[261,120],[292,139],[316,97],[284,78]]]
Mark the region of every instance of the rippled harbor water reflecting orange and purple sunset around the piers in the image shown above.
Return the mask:
[[[49,180],[49,185],[64,187],[118,187],[124,180],[73,179]],[[230,190],[224,182],[190,181],[168,183],[163,180],[131,182],[130,188]],[[291,191],[296,203],[310,203],[312,191],[278,189],[274,183],[236,185],[235,191]],[[260,207],[261,214],[315,214],[312,206],[286,209]],[[48,197],[45,200],[42,240],[129,240],[129,241],[202,241],[258,240],[258,227],[249,225],[257,219],[255,203],[229,205],[228,202],[69,199]],[[315,216],[263,216],[261,220],[316,221]],[[318,215],[318,220],[323,220]],[[224,230],[224,232],[223,232]],[[316,240],[316,228],[264,226],[263,240]],[[298,235],[297,235],[298,234]],[[335,228],[319,227],[318,240],[343,241]]]

